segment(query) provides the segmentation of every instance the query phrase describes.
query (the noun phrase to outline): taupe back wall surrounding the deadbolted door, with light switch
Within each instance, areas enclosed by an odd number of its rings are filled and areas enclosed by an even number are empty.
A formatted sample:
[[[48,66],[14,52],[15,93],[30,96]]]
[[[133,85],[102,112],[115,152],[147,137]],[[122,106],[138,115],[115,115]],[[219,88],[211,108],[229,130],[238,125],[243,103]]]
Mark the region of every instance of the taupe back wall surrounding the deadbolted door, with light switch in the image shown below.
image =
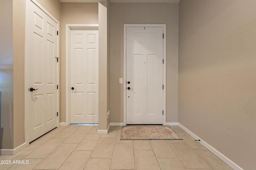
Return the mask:
[[[110,122],[123,122],[124,24],[166,24],[166,122],[178,122],[178,4],[110,4]]]

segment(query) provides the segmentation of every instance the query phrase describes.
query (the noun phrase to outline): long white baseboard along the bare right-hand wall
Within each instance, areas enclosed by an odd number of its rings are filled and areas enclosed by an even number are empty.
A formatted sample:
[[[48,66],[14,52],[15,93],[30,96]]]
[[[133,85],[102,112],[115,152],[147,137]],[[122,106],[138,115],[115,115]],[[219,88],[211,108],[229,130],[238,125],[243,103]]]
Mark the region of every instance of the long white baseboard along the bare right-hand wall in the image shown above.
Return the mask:
[[[186,133],[188,133],[190,136],[192,136],[194,139],[198,140],[200,139],[198,136],[196,136],[194,133],[192,133],[190,130],[188,130],[186,127],[184,127],[183,125],[181,125],[180,123],[178,123],[178,126],[181,127],[184,131],[186,131]],[[234,162],[232,162],[230,159],[228,159],[225,155],[223,155],[222,153],[220,153],[218,150],[214,149],[211,145],[209,145],[208,143],[206,143],[205,141],[203,141],[202,139],[200,139],[200,144],[203,145],[204,147],[206,147],[206,149],[210,150],[213,154],[215,154],[216,156],[218,156],[218,158],[220,158],[221,160],[223,160],[223,162],[225,162],[226,164],[228,164],[228,166],[230,166],[231,168],[233,168],[234,170],[243,170],[242,168],[240,168],[240,166],[238,166],[237,164],[235,164]]]

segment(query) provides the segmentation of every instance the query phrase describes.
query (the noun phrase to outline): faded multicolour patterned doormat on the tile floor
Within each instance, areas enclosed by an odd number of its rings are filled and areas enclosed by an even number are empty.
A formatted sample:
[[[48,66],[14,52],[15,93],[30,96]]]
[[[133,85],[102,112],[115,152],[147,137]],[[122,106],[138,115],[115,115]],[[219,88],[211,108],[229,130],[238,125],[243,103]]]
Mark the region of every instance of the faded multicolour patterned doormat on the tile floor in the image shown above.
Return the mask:
[[[122,126],[120,140],[183,140],[170,126]]]

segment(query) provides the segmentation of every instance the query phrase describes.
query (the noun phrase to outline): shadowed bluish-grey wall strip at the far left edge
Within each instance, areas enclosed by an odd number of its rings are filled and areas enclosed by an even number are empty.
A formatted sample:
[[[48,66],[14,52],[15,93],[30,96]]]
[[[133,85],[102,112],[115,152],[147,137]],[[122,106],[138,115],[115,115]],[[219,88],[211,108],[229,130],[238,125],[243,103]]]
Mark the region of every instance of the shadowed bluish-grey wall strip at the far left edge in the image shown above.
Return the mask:
[[[0,11],[0,149],[13,149],[12,1],[1,0]]]

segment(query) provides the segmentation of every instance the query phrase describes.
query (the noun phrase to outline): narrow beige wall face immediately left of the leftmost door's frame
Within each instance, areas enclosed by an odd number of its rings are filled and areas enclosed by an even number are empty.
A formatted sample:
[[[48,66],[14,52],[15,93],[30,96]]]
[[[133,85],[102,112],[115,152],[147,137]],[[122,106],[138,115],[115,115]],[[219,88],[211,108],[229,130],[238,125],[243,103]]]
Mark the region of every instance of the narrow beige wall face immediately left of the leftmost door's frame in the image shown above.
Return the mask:
[[[24,56],[25,0],[13,0],[13,123],[14,149],[25,142]]]

